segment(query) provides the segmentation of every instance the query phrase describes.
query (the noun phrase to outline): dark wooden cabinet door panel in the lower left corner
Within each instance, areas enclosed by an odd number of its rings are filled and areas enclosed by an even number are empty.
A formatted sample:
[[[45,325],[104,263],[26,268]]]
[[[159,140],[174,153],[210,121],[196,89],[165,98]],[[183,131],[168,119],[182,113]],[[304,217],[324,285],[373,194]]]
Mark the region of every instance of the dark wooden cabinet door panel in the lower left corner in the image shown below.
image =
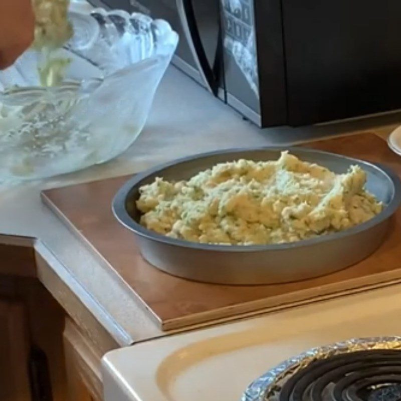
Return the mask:
[[[18,301],[0,300],[0,400],[29,401],[29,334]]]

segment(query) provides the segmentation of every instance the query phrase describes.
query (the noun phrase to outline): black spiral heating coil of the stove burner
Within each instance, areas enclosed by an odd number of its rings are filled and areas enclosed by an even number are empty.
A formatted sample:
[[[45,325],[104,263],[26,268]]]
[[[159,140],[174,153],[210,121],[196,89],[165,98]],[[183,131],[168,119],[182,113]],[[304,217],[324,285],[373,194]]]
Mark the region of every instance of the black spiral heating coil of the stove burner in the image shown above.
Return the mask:
[[[283,384],[277,399],[401,401],[401,351],[356,351],[314,361]]]

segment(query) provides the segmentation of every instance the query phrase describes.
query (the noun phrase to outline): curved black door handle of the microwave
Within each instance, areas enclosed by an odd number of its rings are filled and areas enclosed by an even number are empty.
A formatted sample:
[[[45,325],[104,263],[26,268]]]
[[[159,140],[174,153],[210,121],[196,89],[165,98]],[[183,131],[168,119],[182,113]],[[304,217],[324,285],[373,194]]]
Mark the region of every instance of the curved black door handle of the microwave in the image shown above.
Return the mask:
[[[205,49],[200,40],[192,0],[176,0],[176,6],[185,38],[189,44],[199,74],[204,80],[208,90],[217,96],[219,90],[218,80],[215,77],[213,68],[209,64]]]

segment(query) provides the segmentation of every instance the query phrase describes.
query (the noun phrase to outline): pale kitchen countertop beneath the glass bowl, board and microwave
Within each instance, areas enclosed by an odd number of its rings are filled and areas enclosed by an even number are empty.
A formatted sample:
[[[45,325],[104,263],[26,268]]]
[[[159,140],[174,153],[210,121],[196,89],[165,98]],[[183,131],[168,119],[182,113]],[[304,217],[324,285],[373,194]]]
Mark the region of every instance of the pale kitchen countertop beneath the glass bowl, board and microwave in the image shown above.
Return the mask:
[[[0,242],[21,243],[11,236],[39,239],[37,252],[68,285],[72,280],[90,294],[90,300],[85,302],[96,306],[96,318],[105,326],[117,323],[121,328],[117,333],[110,329],[120,345],[156,337],[162,332],[135,304],[129,290],[42,204],[41,189],[134,173],[179,156],[220,148],[293,143],[366,129],[385,136],[398,122],[399,113],[320,127],[260,130],[170,67],[157,91],[146,127],[119,158],[62,177],[0,186]]]

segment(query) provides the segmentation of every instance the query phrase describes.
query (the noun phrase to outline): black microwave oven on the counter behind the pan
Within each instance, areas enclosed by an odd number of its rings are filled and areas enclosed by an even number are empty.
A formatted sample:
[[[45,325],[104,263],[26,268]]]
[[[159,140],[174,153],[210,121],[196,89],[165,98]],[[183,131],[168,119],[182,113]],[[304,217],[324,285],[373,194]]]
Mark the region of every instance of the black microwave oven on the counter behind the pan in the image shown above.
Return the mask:
[[[173,64],[260,127],[401,109],[398,0],[90,0],[168,21]]]

